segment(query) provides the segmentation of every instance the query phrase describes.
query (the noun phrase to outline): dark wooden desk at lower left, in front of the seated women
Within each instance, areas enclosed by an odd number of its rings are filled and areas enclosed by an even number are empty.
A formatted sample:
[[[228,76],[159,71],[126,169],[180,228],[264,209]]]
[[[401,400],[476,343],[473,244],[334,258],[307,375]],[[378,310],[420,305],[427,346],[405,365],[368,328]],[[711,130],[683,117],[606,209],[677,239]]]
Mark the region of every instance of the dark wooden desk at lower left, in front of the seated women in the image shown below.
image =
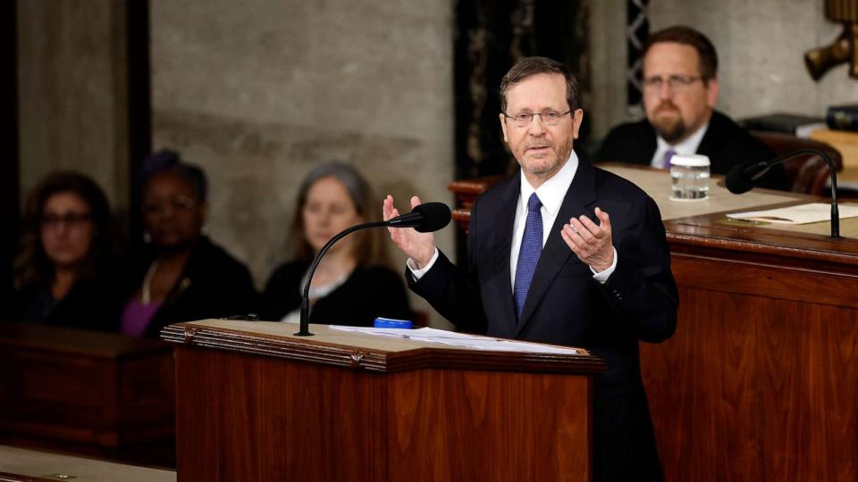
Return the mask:
[[[170,466],[172,346],[0,323],[0,443]]]

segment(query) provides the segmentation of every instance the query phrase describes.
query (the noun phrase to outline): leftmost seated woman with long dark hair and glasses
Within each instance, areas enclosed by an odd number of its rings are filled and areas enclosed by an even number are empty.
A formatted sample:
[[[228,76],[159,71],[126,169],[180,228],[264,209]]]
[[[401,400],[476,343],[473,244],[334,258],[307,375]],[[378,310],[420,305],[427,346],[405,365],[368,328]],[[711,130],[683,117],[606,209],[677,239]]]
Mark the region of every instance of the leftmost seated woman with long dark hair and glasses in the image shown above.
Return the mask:
[[[116,231],[102,190],[56,172],[29,195],[15,259],[13,320],[109,330]]]

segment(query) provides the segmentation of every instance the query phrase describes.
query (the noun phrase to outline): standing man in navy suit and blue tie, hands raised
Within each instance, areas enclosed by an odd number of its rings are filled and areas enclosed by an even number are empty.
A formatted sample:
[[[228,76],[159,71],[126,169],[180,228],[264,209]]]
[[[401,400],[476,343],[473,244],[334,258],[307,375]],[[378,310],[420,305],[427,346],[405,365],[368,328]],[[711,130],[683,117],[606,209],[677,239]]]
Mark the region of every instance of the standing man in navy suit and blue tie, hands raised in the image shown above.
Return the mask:
[[[652,198],[572,150],[584,117],[577,94],[567,68],[543,57],[504,76],[501,129],[521,169],[475,201],[467,274],[431,233],[391,229],[391,239],[408,255],[408,286],[458,328],[604,359],[593,383],[595,480],[660,480],[638,342],[676,328],[669,247]],[[399,215],[390,195],[383,213]]]

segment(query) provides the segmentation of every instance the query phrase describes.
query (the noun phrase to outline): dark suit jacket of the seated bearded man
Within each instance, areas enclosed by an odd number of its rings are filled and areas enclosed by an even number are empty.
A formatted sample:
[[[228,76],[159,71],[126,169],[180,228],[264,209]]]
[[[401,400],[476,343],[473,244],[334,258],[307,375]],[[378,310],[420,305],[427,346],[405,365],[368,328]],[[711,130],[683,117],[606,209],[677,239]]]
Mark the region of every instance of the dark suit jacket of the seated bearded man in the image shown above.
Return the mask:
[[[650,165],[657,148],[655,129],[649,120],[622,124],[608,133],[601,143],[596,159],[599,162],[628,162]],[[726,175],[736,164],[748,161],[768,161],[777,157],[768,145],[721,112],[712,112],[709,128],[697,147],[711,162],[712,174]],[[756,186],[788,191],[790,186],[783,166],[769,171]]]

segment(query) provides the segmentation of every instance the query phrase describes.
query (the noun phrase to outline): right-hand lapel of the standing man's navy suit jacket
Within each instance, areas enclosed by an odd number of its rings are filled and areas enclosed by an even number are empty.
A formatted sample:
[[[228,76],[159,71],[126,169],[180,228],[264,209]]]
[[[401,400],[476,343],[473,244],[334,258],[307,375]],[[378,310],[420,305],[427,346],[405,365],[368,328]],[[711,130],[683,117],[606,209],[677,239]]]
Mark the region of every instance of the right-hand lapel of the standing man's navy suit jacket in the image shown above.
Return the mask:
[[[560,229],[573,216],[578,217],[581,214],[586,214],[593,219],[593,210],[589,206],[595,200],[596,189],[593,166],[587,162],[579,162],[575,178],[572,179],[572,184],[563,197],[563,203],[560,204],[557,218],[554,220],[554,225],[551,226],[548,241],[545,242],[543,252],[539,256],[539,262],[536,263],[534,278],[530,282],[530,288],[527,290],[525,308],[521,312],[521,319],[518,320],[516,335],[520,334],[531,320],[536,307],[548,292],[560,268],[568,262],[570,256],[575,256],[575,253],[572,253],[572,250],[566,245],[566,241],[563,241],[563,238],[560,237]],[[514,214],[515,212],[513,212]],[[598,220],[596,222],[598,223]]]

